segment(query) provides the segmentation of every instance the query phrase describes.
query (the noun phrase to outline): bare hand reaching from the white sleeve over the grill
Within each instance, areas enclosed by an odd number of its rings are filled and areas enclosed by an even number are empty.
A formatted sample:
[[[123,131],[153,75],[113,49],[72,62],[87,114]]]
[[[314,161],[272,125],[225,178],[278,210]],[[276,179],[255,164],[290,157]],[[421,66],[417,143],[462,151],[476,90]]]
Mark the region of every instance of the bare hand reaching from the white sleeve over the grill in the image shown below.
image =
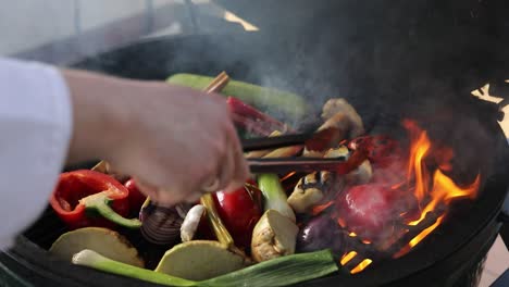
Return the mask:
[[[74,107],[71,159],[107,160],[160,205],[196,201],[214,180],[231,190],[247,179],[221,96],[85,72],[64,76]]]

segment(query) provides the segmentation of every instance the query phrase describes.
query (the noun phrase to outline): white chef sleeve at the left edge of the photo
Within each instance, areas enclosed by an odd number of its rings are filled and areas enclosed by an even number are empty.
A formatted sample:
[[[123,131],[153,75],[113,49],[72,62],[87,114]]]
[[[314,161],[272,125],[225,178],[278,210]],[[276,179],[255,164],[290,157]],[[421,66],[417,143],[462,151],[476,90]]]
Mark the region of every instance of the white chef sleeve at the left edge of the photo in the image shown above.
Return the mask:
[[[0,249],[47,207],[71,135],[71,99],[60,72],[0,58]]]

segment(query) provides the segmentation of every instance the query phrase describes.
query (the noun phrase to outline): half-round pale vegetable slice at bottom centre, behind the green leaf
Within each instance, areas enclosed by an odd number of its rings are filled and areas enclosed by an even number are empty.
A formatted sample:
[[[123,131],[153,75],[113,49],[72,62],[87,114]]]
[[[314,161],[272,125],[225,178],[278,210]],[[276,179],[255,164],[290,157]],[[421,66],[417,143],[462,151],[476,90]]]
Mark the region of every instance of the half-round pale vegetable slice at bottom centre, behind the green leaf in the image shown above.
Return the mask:
[[[156,272],[202,280],[239,270],[245,265],[243,255],[218,241],[193,240],[166,251]]]

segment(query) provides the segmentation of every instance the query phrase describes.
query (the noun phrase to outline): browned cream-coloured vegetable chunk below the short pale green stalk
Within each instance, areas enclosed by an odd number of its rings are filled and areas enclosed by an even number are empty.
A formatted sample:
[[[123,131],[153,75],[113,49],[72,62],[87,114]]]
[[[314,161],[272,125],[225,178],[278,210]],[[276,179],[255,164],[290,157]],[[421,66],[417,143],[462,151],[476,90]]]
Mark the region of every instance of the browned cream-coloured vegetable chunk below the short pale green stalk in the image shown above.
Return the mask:
[[[252,258],[261,262],[293,254],[298,230],[288,217],[275,210],[268,210],[252,232]]]

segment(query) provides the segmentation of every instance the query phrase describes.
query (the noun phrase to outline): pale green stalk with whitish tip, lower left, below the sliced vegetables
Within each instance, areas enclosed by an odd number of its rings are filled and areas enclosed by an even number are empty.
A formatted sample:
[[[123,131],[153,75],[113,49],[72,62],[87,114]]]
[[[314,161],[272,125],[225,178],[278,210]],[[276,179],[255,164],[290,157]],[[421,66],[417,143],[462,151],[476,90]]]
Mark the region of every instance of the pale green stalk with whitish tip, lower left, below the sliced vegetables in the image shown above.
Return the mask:
[[[131,278],[161,284],[165,286],[197,286],[196,282],[173,277],[163,273],[135,267],[119,261],[108,259],[92,250],[85,249],[73,257],[73,263],[92,267],[102,272],[113,273]]]

